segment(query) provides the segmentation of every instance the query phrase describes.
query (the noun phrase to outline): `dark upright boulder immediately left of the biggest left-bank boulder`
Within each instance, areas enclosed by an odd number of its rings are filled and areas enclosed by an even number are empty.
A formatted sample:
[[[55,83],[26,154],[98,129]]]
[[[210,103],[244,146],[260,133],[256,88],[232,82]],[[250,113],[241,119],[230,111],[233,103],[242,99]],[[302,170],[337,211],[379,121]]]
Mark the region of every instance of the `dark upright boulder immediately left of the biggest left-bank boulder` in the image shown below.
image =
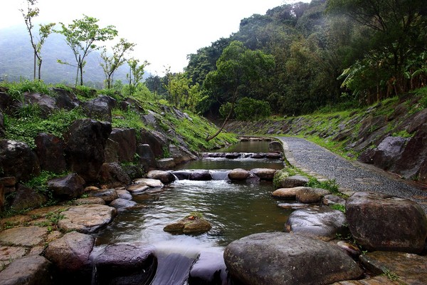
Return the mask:
[[[67,170],[64,142],[55,135],[39,133],[35,139],[36,154],[41,170],[61,173]]]

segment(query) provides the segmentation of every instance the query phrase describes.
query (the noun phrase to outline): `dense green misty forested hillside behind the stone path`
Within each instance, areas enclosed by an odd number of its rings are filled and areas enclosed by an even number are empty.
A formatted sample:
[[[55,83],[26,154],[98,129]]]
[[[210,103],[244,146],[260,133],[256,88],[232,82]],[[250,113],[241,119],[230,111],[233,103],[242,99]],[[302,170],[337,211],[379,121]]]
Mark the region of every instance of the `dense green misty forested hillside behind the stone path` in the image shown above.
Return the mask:
[[[272,113],[299,115],[425,86],[426,43],[425,0],[312,0],[241,20],[236,33],[190,54],[179,76],[199,88],[197,110],[214,118],[226,117],[232,105],[238,112],[239,104],[255,114],[261,103]],[[154,79],[147,81],[151,90]],[[173,91],[164,95],[172,99]],[[181,95],[184,107],[189,95]]]

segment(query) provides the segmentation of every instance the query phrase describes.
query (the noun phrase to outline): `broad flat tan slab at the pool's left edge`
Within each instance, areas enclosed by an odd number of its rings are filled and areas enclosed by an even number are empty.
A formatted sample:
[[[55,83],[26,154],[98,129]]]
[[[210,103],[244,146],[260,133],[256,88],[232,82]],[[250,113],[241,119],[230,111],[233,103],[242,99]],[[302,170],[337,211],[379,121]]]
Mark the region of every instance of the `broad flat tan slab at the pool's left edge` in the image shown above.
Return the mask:
[[[58,222],[60,229],[89,234],[112,222],[117,210],[101,204],[84,204],[70,207],[61,214],[64,218]]]

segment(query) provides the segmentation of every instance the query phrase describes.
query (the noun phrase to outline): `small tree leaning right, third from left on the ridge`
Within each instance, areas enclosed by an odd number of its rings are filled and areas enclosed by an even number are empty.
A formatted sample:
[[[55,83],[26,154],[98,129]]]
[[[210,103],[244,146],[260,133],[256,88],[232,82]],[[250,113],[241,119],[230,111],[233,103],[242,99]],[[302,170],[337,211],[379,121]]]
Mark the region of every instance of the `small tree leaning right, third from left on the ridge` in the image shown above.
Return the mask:
[[[104,48],[102,51],[101,59],[103,62],[100,65],[105,74],[107,89],[110,89],[112,86],[112,74],[125,63],[125,54],[133,51],[135,46],[135,43],[130,43],[125,38],[120,38],[120,41],[115,46],[112,46],[112,55],[107,55],[107,48]]]

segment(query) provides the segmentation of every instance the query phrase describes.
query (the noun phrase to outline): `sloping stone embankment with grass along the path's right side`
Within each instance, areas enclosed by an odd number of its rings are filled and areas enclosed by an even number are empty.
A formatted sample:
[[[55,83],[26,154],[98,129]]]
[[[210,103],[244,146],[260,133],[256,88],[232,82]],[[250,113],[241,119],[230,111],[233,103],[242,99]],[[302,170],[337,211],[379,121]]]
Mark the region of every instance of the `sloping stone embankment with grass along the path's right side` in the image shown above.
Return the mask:
[[[342,145],[360,162],[427,184],[427,109],[419,99],[390,100],[351,113],[232,121],[225,128],[241,135],[317,135]]]

